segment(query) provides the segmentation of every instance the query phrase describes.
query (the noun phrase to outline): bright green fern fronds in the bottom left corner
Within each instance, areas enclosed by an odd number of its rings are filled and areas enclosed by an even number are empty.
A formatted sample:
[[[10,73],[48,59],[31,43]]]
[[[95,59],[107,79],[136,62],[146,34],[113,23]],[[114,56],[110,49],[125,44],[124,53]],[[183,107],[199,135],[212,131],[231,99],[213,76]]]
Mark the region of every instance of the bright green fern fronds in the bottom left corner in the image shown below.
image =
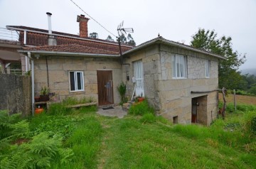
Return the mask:
[[[9,153],[0,156],[0,168],[50,168],[50,163],[72,160],[73,151],[61,148],[58,136],[50,138],[48,133],[33,136],[28,143],[10,146]]]

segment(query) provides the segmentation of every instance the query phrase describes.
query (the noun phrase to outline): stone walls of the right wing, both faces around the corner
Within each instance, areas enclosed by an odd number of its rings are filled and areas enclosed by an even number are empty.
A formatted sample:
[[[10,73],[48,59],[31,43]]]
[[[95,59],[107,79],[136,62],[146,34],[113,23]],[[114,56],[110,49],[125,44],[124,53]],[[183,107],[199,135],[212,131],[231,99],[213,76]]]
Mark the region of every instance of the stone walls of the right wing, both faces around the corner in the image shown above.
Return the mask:
[[[188,75],[184,79],[172,77],[171,55],[186,55]],[[208,96],[204,112],[209,125],[217,116],[217,92],[191,94],[191,91],[212,91],[218,88],[218,58],[210,55],[184,50],[174,46],[157,44],[130,54],[122,69],[123,81],[127,84],[127,94],[132,97],[134,76],[133,62],[142,60],[144,68],[145,96],[154,105],[154,109],[173,121],[178,116],[178,123],[191,124],[191,99]],[[210,77],[206,77],[206,60],[210,60]],[[127,80],[129,76],[129,80]],[[212,118],[211,118],[212,117]]]

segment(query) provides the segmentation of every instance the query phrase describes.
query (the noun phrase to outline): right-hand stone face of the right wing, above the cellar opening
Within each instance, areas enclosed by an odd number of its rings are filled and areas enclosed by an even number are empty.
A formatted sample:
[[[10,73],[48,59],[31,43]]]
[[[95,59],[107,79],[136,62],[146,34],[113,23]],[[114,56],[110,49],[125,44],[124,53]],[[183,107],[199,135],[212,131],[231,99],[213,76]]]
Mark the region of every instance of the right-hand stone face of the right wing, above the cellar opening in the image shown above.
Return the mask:
[[[203,124],[209,125],[212,120],[209,114],[212,114],[213,119],[217,115],[216,92],[191,94],[191,91],[204,92],[218,89],[218,58],[166,45],[161,45],[160,50],[161,73],[157,84],[161,109],[159,113],[171,121],[174,116],[178,116],[178,123],[191,124],[191,99],[208,95],[206,107],[203,108],[207,120]],[[171,56],[175,54],[187,56],[188,75],[184,79],[172,77]],[[210,77],[206,77],[206,60],[210,60]]]

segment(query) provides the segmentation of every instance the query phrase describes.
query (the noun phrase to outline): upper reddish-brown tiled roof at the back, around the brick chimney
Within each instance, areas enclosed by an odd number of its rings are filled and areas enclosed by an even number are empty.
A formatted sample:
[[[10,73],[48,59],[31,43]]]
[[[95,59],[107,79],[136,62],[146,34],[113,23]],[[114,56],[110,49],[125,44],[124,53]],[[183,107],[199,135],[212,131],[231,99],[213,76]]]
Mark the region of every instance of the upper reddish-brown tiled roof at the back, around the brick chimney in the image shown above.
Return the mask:
[[[6,26],[11,28],[18,28],[29,31],[37,31],[41,33],[35,32],[27,32],[26,33],[26,45],[48,45],[48,30],[39,29],[39,28],[30,28],[26,26]],[[102,50],[110,50],[114,52],[119,52],[119,45],[117,42],[112,42],[108,40],[96,39],[96,38],[80,38],[78,35],[73,35],[70,33],[61,33],[57,31],[53,31],[53,34],[60,35],[57,36],[57,45],[68,45],[68,44],[79,44],[86,45],[90,48],[98,48]],[[23,31],[20,32],[19,40],[23,42]],[[125,52],[129,49],[133,48],[131,45],[123,44],[122,52]]]

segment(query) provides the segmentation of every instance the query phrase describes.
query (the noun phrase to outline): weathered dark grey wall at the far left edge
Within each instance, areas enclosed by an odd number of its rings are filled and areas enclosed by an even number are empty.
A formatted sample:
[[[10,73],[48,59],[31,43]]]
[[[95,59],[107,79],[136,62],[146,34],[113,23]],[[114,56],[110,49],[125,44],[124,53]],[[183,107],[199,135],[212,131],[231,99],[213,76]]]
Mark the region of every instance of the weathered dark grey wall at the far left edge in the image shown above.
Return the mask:
[[[31,77],[0,74],[0,109],[31,114]]]

